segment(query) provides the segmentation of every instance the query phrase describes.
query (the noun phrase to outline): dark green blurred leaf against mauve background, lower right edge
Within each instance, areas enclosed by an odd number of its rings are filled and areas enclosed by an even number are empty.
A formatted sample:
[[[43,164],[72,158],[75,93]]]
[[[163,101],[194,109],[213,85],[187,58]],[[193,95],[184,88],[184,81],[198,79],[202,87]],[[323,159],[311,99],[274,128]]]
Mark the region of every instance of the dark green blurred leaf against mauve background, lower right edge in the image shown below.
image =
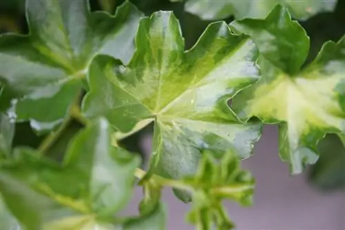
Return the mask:
[[[322,191],[345,189],[344,135],[327,135],[317,145],[320,158],[309,174],[313,187]]]

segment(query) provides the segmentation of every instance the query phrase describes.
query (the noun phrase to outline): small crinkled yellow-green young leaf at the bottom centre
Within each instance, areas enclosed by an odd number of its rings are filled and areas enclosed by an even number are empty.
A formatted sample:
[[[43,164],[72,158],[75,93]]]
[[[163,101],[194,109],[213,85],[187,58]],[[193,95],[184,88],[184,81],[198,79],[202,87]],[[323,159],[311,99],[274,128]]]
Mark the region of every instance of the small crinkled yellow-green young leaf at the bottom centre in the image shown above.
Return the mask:
[[[197,229],[232,229],[234,227],[221,205],[223,199],[236,200],[241,205],[251,205],[255,181],[247,171],[242,171],[237,156],[228,152],[221,160],[205,152],[195,176],[184,179],[193,187],[193,203],[188,220]],[[215,225],[214,225],[215,224]]]

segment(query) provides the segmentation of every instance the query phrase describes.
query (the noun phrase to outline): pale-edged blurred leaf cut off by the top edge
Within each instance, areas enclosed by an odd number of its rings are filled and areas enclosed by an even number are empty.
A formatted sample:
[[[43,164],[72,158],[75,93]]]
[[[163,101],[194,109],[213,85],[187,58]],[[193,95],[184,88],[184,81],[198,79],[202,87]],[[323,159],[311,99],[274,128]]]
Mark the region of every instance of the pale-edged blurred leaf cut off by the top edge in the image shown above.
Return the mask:
[[[333,11],[337,0],[189,0],[185,10],[204,20],[225,19],[230,15],[236,19],[264,19],[278,4],[288,8],[295,19],[306,20],[319,12]]]

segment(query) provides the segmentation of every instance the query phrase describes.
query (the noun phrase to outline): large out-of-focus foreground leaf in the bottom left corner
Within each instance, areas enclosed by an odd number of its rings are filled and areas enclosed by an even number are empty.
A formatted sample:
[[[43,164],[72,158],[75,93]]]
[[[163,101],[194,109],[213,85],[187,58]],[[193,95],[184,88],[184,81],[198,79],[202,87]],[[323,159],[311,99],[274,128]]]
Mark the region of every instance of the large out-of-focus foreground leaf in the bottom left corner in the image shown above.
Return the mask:
[[[103,118],[79,133],[62,165],[17,149],[15,163],[0,167],[0,191],[27,230],[114,229],[128,203],[139,158],[111,146]]]

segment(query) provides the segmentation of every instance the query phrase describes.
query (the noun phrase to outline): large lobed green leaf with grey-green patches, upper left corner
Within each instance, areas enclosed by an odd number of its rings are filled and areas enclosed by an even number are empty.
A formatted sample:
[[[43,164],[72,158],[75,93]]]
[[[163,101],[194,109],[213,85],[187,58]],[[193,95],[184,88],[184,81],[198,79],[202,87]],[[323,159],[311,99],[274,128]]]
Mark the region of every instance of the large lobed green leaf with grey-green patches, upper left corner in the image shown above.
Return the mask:
[[[129,1],[91,13],[87,0],[27,1],[26,14],[30,34],[0,36],[0,80],[19,98],[17,120],[44,131],[68,114],[96,54],[129,61],[142,14]]]

